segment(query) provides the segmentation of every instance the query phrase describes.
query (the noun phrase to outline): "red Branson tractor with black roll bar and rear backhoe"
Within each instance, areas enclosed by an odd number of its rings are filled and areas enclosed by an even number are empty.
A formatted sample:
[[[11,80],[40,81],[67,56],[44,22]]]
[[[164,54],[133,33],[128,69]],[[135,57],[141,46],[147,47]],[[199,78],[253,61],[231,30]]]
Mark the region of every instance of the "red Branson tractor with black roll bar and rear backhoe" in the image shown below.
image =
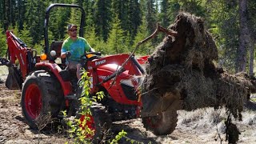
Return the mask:
[[[62,110],[66,110],[68,116],[75,115],[77,110],[78,80],[72,71],[66,70],[65,62],[55,62],[56,58],[60,58],[62,42],[52,42],[49,46],[48,21],[50,10],[54,7],[81,10],[79,36],[82,37],[85,22],[82,7],[52,4],[46,9],[44,23],[45,55],[38,56],[35,50],[28,48],[21,39],[7,30],[8,58],[1,58],[2,65],[9,67],[6,86],[9,89],[22,90],[22,114],[28,125],[34,129],[38,128],[35,120],[39,115],[51,114],[54,118],[61,118]],[[56,54],[53,52],[51,55],[53,50]],[[98,52],[89,54],[94,56],[89,58],[85,54],[82,63],[92,83],[90,94],[94,95],[98,91],[106,94],[100,103],[95,102],[90,108],[95,134],[98,134],[102,123],[139,116],[142,102],[138,84],[145,73],[141,64],[146,62],[147,57],[135,58],[129,54],[102,57]]]

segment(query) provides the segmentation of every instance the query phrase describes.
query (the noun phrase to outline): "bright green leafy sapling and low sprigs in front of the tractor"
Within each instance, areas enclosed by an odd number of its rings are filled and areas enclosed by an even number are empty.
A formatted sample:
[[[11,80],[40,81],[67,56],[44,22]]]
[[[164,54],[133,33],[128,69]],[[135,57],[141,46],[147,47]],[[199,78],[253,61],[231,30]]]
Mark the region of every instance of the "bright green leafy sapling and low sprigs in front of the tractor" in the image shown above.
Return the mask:
[[[68,120],[66,125],[69,126],[68,134],[70,138],[74,138],[75,143],[90,143],[92,136],[94,135],[94,130],[90,129],[89,126],[86,125],[86,122],[91,121],[91,111],[90,106],[92,106],[93,102],[101,101],[104,98],[104,93],[99,91],[96,95],[90,95],[90,77],[88,77],[86,70],[82,70],[82,78],[79,82],[79,86],[82,87],[81,98],[79,98],[80,106],[79,106],[79,114],[78,117],[73,120]],[[66,111],[62,111],[64,117],[67,115]],[[84,117],[84,118],[81,118]],[[139,143],[134,139],[126,137],[126,131],[122,130],[119,132],[114,139],[108,142],[110,144],[118,143],[121,138],[126,138],[127,142],[130,143]]]

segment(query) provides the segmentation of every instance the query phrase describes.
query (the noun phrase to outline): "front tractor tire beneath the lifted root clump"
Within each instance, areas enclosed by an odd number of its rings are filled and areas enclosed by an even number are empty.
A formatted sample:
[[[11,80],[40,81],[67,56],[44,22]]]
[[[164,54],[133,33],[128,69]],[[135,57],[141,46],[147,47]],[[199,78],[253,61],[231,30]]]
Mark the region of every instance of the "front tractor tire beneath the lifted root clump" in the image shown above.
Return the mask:
[[[178,122],[177,110],[180,102],[175,101],[166,111],[161,112],[157,116],[149,116],[142,118],[142,123],[146,130],[150,130],[155,135],[171,134]]]

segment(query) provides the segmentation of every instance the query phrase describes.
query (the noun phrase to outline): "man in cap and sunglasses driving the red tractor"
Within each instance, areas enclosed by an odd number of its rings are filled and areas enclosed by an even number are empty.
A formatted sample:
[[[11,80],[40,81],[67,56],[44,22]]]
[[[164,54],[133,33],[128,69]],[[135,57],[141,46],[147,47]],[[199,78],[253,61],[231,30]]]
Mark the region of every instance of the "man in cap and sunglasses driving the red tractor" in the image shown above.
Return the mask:
[[[80,79],[80,69],[82,67],[80,58],[86,51],[94,52],[85,38],[78,37],[78,26],[69,24],[67,26],[67,33],[69,38],[63,42],[61,58],[70,58],[68,67],[70,70],[76,70],[77,78]]]

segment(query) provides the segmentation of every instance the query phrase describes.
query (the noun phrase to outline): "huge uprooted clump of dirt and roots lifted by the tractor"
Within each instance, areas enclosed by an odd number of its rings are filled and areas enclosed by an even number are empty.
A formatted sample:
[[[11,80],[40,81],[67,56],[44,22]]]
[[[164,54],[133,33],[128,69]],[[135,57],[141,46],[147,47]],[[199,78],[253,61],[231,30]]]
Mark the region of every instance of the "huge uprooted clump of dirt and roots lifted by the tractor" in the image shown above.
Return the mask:
[[[142,113],[158,114],[180,100],[182,110],[226,106],[234,118],[242,118],[254,83],[246,74],[228,74],[215,66],[218,49],[203,19],[180,13],[168,30],[177,35],[166,35],[146,64]]]

